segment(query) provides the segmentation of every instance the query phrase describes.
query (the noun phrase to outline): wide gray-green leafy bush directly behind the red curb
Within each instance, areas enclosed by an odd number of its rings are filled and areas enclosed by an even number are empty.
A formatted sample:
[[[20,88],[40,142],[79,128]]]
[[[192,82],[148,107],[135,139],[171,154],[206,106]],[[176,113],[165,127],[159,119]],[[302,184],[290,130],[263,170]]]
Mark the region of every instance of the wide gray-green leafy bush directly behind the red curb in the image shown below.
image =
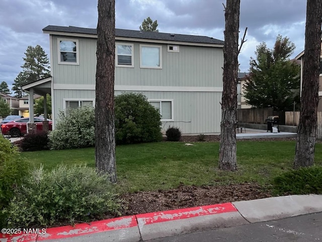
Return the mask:
[[[123,209],[108,175],[94,168],[60,165],[30,170],[24,185],[2,213],[5,227],[50,226],[57,222],[92,221],[120,215]],[[0,212],[1,213],[1,212]]]

